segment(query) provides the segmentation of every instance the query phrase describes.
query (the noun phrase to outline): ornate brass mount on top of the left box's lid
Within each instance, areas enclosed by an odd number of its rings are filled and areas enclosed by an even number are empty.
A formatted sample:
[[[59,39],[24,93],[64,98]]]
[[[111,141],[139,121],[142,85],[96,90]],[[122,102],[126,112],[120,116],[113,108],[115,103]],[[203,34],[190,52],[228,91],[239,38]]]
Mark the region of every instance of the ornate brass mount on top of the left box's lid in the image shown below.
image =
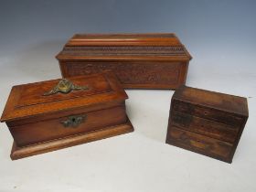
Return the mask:
[[[89,88],[88,86],[74,85],[70,80],[62,79],[62,80],[59,80],[59,83],[51,91],[45,92],[43,96],[56,94],[57,92],[69,93],[70,91],[78,91],[78,90],[89,90]]]

